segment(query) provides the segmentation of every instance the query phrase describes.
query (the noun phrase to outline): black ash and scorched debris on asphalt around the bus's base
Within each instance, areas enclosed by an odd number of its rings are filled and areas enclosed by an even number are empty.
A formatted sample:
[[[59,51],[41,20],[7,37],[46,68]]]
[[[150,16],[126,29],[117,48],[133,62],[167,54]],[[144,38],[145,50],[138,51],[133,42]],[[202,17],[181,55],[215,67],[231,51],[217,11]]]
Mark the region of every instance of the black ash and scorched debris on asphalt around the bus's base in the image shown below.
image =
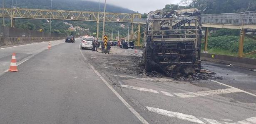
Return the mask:
[[[172,76],[167,76],[161,70],[156,72],[146,72],[142,57],[131,55],[129,53],[127,53],[127,55],[98,53],[97,57],[91,55],[91,58],[94,58],[91,60],[94,64],[102,65],[102,69],[115,74],[171,78],[176,80],[222,79],[221,77],[214,76],[214,73],[208,71],[197,74],[174,74]]]

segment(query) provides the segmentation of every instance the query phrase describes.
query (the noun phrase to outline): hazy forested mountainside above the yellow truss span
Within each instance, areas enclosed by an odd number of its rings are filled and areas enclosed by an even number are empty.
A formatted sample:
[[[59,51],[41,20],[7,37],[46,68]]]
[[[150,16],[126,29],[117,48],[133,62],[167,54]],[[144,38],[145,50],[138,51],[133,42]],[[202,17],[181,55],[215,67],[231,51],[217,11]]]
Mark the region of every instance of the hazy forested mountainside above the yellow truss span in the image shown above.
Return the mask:
[[[11,7],[11,3],[5,0],[5,7]],[[10,1],[10,0],[9,0]],[[0,6],[2,7],[2,2],[0,2]],[[28,9],[51,9],[51,0],[13,0],[13,6],[17,6],[20,8],[28,8]],[[93,11],[98,12],[98,8],[100,11],[104,11],[104,3],[93,2],[93,1],[85,1],[85,0],[52,0],[52,10],[75,10],[75,11]],[[106,12],[118,12],[118,13],[135,13],[132,10],[117,7],[114,5],[108,5],[106,7]]]

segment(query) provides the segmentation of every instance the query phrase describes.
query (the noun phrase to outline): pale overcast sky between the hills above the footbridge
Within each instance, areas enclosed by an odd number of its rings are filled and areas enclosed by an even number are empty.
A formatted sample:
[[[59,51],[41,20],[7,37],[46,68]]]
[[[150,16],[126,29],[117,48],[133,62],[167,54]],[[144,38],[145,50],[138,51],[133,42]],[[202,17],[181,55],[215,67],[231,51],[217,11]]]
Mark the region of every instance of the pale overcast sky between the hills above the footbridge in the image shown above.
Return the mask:
[[[90,0],[104,3],[104,0]],[[107,4],[128,8],[139,13],[162,9],[167,4],[178,4],[181,0],[107,0]]]

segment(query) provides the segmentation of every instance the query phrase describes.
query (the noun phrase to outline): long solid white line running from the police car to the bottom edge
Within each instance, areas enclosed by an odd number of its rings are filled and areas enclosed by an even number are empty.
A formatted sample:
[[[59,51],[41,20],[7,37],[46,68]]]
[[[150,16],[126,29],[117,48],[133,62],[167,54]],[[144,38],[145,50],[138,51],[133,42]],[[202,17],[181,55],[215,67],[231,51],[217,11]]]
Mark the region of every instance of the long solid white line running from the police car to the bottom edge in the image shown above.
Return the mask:
[[[79,45],[79,49],[80,49],[80,45]],[[82,54],[82,50],[80,49],[80,52]],[[85,60],[86,57],[82,54],[82,56],[84,57]],[[117,93],[117,91],[114,90],[114,88],[99,74],[99,72],[88,62],[89,66],[92,68],[92,70],[99,76],[99,78],[108,86],[108,88],[117,96],[117,98],[119,98],[119,100],[122,101],[122,103],[124,103],[124,105],[143,123],[143,124],[149,124],[136,110],[134,110],[134,108],[129,105],[129,103],[126,102],[126,100],[124,100],[124,98],[122,98],[121,95],[119,95],[119,93]]]

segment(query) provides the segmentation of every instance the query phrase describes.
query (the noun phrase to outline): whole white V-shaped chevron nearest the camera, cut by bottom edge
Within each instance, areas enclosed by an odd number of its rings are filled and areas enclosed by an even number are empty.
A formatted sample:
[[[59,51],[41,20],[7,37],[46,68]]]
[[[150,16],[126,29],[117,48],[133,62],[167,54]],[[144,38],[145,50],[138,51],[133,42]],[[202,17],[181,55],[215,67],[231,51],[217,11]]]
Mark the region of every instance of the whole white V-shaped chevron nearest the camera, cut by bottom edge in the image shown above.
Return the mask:
[[[190,122],[196,122],[199,124],[256,124],[256,117],[244,119],[239,122],[229,123],[229,122],[217,121],[214,119],[207,119],[207,118],[203,118],[203,117],[197,118],[193,115],[183,114],[183,113],[179,113],[179,112],[171,112],[171,111],[167,111],[167,110],[163,110],[163,109],[159,109],[159,108],[155,108],[155,107],[146,106],[146,108],[147,108],[147,110],[149,110],[149,112],[155,112],[155,113],[162,114],[165,116],[175,117],[178,119],[182,119],[182,120],[186,120],[186,121],[190,121]]]

